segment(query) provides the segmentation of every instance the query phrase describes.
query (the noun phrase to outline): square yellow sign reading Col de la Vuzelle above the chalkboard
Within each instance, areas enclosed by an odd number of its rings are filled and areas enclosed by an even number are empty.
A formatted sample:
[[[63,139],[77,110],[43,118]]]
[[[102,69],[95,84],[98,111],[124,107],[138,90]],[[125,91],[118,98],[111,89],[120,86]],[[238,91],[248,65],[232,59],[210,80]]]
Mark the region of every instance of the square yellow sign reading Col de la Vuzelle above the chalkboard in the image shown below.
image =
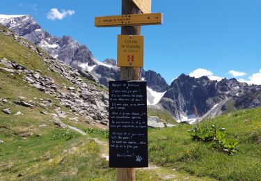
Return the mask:
[[[118,67],[143,67],[143,36],[118,35]]]

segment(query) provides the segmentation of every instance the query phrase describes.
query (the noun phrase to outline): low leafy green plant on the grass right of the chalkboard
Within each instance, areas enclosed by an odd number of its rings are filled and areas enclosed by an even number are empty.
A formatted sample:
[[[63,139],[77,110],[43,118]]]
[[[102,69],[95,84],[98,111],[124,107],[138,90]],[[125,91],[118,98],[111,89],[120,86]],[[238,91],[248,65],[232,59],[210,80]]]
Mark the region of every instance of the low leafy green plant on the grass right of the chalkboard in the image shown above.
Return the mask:
[[[234,155],[237,152],[238,141],[226,138],[225,128],[218,128],[215,125],[211,127],[193,127],[188,130],[193,141],[212,142],[212,149],[226,152],[228,155]]]

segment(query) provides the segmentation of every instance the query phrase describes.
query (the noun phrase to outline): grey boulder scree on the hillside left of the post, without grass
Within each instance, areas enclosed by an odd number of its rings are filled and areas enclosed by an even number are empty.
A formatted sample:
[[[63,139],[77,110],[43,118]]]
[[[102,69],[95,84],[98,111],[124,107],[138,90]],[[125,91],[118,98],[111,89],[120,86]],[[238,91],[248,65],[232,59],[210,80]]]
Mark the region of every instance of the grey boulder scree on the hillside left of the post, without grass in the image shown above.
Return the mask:
[[[45,54],[39,53],[35,47],[29,44],[29,42],[26,42],[23,38],[15,36],[12,31],[4,29],[4,31],[0,33],[3,33],[5,36],[10,36],[10,38],[17,40],[21,45],[28,47],[33,52],[38,54],[45,62],[45,65],[47,65],[49,70],[60,74],[61,77],[67,79],[68,82],[70,82],[72,85],[61,86],[60,82],[54,81],[54,79],[47,77],[39,70],[29,70],[22,65],[19,65],[19,63],[16,63],[15,60],[13,62],[6,60],[7,63],[11,63],[13,66],[13,68],[10,68],[10,70],[13,70],[15,73],[22,75],[24,84],[29,84],[30,86],[43,91],[44,93],[53,97],[53,99],[58,100],[61,105],[65,105],[65,107],[69,108],[68,112],[64,112],[61,111],[59,107],[57,107],[57,114],[54,116],[55,118],[57,117],[55,124],[57,124],[59,127],[64,127],[61,121],[59,123],[58,117],[68,118],[69,115],[91,115],[92,120],[89,120],[91,124],[100,123],[102,125],[108,125],[109,95],[102,86],[92,82],[88,82],[87,84],[87,82],[82,79],[81,74],[79,74],[77,70],[50,56],[45,56]],[[1,66],[5,67],[3,64],[1,64]],[[66,88],[67,90],[65,90]],[[50,99],[38,99],[35,97],[33,101],[26,100],[26,97],[22,96],[20,96],[18,101],[15,103],[21,106],[31,107],[31,109],[35,109],[34,107],[42,107],[43,109],[46,109],[47,107],[52,107],[54,104],[54,102]],[[47,114],[45,111],[42,111],[41,113]]]

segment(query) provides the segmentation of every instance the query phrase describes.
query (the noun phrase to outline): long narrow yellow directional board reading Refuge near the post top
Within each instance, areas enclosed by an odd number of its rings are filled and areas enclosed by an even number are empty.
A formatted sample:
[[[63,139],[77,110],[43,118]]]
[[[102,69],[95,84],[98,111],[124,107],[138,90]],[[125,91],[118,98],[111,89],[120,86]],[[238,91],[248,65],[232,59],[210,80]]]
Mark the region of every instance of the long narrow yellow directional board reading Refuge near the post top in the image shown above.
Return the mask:
[[[162,17],[163,15],[161,13],[95,17],[95,26],[110,27],[162,24]]]

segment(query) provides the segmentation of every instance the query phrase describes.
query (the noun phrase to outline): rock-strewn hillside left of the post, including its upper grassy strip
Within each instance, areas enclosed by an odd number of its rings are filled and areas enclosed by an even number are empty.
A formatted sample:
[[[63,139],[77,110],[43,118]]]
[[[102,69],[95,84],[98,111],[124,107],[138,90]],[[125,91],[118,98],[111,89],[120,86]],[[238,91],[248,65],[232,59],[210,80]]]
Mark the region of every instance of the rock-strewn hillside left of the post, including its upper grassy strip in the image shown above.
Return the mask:
[[[76,117],[86,117],[86,122],[89,124],[108,124],[109,95],[104,86],[82,77],[77,70],[52,58],[52,56],[48,56],[40,48],[31,45],[30,42],[16,36],[3,26],[1,26],[0,33],[0,71],[4,72],[5,76],[15,77],[19,75],[22,81],[25,81],[29,86],[52,96],[59,102],[56,105],[57,110],[66,107]],[[8,49],[9,44],[18,49]],[[31,61],[26,57],[24,61],[19,56],[17,56],[17,59],[15,58],[21,50],[24,51],[25,56],[31,58]],[[37,59],[32,57],[37,57]],[[1,81],[4,81],[4,77]],[[19,87],[17,87],[17,90],[19,90]],[[6,97],[2,98],[6,100]],[[26,107],[48,107],[48,105],[53,104],[52,102],[52,100],[24,102],[20,99],[15,104],[22,104]],[[61,111],[58,116],[66,117],[67,113]]]

